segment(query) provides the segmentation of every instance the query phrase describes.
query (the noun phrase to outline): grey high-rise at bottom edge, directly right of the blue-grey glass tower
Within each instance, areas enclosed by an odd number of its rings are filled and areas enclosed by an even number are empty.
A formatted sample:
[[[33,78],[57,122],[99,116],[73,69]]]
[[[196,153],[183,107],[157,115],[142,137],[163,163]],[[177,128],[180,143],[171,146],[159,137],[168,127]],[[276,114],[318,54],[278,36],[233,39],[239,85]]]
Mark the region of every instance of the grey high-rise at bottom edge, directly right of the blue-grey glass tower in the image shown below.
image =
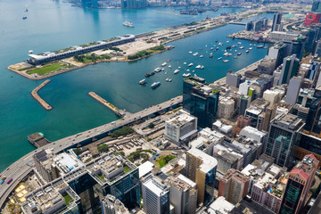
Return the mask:
[[[194,214],[197,204],[196,184],[183,175],[168,177],[170,185],[170,204],[174,206],[174,214]]]

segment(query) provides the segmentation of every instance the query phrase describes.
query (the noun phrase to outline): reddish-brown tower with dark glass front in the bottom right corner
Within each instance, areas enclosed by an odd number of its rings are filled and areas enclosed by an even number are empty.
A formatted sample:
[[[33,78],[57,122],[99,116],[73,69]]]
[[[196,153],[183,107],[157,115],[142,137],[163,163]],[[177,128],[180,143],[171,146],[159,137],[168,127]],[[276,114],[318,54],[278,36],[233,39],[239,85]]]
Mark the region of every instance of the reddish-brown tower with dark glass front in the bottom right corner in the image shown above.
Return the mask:
[[[318,163],[319,161],[313,154],[308,154],[291,170],[278,213],[301,213],[309,194],[309,188],[314,180]]]

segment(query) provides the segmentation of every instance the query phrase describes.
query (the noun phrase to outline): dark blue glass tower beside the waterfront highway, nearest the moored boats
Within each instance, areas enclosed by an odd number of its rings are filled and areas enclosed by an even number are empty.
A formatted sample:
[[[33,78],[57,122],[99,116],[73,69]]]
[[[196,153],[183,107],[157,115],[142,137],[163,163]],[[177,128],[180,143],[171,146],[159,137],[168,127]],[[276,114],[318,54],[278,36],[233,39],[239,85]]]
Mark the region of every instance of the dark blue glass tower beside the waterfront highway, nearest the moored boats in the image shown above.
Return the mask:
[[[217,119],[218,96],[218,91],[205,85],[204,78],[185,78],[183,109],[197,118],[199,127],[211,127]]]

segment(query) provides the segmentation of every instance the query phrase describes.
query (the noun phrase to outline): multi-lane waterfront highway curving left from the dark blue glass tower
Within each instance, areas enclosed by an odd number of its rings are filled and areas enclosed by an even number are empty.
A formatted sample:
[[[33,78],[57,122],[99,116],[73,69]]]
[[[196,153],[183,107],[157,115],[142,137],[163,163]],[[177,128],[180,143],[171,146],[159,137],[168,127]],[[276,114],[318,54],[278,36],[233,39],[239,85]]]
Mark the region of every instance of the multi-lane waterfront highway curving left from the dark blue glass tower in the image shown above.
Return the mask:
[[[95,136],[99,136],[103,133],[107,133],[115,128],[120,128],[126,126],[130,123],[135,122],[137,119],[141,119],[147,117],[153,113],[156,113],[161,110],[165,110],[173,105],[183,102],[183,96],[177,96],[167,102],[160,103],[158,105],[151,106],[143,111],[138,111],[134,114],[131,114],[123,119],[118,119],[111,123],[105,124],[103,126],[92,128],[90,130],[86,130],[85,132],[78,133],[73,136],[67,136],[60,140],[57,140],[51,144],[47,144],[38,148],[33,152],[29,152],[24,155],[20,160],[15,161],[10,165],[7,169],[5,169],[0,175],[1,177],[7,177],[5,179],[4,184],[0,185],[0,208],[3,208],[4,202],[9,194],[13,191],[13,188],[19,184],[23,177],[26,177],[29,172],[33,169],[33,154],[39,152],[43,149],[51,149],[54,153],[62,152],[64,149],[69,148],[73,145],[77,145],[78,143],[84,142],[89,139],[93,139]],[[0,177],[0,178],[1,178]],[[12,178],[12,183],[7,185],[6,181],[8,178]]]

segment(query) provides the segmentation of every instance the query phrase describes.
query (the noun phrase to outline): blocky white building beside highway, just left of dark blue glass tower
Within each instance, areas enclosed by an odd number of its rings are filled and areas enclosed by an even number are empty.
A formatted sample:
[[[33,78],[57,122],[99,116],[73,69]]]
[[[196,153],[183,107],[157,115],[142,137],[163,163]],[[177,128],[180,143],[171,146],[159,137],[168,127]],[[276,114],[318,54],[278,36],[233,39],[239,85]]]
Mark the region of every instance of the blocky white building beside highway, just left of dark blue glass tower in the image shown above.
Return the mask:
[[[165,138],[180,145],[189,142],[197,135],[197,118],[183,112],[165,121]]]

